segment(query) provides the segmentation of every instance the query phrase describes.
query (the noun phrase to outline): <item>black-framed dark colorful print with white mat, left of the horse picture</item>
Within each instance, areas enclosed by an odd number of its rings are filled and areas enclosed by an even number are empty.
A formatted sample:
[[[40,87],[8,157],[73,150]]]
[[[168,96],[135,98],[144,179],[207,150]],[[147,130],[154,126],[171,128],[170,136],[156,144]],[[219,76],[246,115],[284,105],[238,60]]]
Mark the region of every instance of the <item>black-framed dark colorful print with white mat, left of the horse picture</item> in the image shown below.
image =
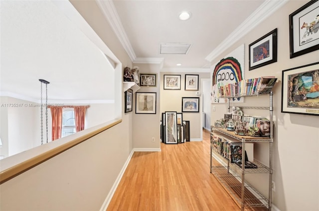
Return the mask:
[[[277,28],[249,45],[249,70],[277,62]]]

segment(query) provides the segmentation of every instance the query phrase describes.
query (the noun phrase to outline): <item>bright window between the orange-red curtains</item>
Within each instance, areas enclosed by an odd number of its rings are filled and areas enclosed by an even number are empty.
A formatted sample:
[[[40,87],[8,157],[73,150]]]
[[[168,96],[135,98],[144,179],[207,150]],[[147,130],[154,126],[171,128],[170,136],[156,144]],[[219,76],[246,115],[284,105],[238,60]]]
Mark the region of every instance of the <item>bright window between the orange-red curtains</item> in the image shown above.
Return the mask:
[[[71,134],[74,134],[75,132],[76,132],[76,129],[75,129],[74,110],[73,110],[73,108],[64,110],[62,112],[61,138],[66,137],[66,136],[71,135]]]

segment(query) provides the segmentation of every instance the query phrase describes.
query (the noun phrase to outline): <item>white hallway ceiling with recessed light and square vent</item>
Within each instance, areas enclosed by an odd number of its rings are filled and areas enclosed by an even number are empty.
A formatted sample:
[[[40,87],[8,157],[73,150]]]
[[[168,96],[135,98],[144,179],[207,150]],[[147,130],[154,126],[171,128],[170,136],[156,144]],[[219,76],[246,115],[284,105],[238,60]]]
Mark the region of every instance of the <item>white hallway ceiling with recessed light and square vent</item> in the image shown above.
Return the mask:
[[[103,2],[103,1],[102,1]],[[264,0],[114,0],[137,58],[163,58],[163,68],[210,68],[205,58]],[[178,15],[189,11],[188,20]],[[243,12],[245,11],[245,12]],[[186,55],[160,54],[161,43],[185,43]]]

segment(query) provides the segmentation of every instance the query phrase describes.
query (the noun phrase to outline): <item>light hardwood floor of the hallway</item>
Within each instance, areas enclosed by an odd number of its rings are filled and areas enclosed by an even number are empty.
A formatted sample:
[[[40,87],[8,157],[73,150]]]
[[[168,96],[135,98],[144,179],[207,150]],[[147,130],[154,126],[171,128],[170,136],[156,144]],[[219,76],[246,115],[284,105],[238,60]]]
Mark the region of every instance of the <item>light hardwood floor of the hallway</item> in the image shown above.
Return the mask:
[[[134,152],[107,211],[240,211],[210,173],[208,131],[203,141],[160,144],[160,152]]]

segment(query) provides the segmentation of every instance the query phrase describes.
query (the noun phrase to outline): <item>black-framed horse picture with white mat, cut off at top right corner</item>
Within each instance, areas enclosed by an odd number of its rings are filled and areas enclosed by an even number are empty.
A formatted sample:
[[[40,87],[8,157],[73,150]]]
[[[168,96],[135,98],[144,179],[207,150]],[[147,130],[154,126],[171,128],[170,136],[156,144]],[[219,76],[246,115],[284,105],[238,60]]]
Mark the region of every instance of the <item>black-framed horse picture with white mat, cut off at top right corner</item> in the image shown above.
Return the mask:
[[[311,0],[289,15],[290,58],[319,49],[319,0]]]

